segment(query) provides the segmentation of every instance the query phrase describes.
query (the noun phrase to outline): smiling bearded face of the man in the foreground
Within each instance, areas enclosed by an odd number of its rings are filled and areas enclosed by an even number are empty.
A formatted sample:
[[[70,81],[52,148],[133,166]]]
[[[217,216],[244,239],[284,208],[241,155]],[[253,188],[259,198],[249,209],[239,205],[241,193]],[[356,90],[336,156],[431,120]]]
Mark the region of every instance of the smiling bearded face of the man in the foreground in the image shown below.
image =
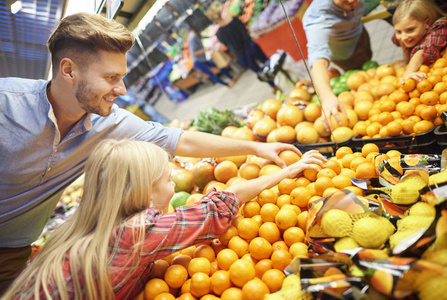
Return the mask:
[[[127,92],[123,82],[126,71],[124,54],[101,50],[85,72],[80,72],[75,90],[80,107],[88,113],[108,116],[114,100]]]

